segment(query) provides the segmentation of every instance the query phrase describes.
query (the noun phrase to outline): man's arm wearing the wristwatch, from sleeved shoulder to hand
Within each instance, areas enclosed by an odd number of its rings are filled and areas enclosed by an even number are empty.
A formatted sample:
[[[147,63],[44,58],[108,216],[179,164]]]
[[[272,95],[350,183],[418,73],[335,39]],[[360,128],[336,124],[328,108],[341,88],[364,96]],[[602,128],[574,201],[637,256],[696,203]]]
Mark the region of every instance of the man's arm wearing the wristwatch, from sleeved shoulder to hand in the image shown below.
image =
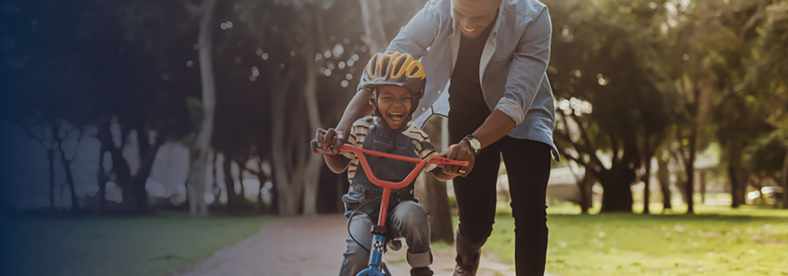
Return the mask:
[[[520,38],[510,64],[504,97],[500,98],[485,123],[473,133],[481,142],[482,149],[504,138],[512,128],[525,120],[525,114],[545,78],[550,60],[551,33],[550,15],[545,8],[534,17]],[[473,169],[474,151],[465,140],[449,147],[446,156],[454,160],[470,161],[470,167],[447,167],[448,174],[465,176]]]

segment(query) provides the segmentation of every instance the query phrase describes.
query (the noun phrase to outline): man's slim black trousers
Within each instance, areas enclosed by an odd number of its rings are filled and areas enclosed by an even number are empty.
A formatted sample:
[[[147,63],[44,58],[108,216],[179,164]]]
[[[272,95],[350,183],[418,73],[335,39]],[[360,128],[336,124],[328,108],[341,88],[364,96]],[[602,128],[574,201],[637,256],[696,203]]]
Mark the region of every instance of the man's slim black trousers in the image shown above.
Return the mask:
[[[477,123],[452,122],[452,116],[449,118],[452,144],[475,130]],[[459,262],[473,263],[478,258],[481,245],[492,233],[496,216],[496,182],[500,156],[503,156],[509,178],[512,216],[515,218],[516,274],[545,274],[548,244],[545,193],[550,177],[550,152],[551,147],[546,143],[505,136],[481,150],[468,176],[454,178],[459,208],[456,245]],[[484,267],[483,263],[481,267]]]

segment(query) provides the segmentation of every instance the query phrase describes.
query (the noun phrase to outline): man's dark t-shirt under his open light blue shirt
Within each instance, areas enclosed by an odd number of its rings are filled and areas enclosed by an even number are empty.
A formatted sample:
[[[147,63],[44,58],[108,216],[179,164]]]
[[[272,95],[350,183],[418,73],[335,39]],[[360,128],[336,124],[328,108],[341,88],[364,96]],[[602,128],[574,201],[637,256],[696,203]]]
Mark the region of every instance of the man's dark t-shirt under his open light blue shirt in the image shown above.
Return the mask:
[[[490,114],[481,93],[479,62],[492,25],[474,39],[466,38],[465,35],[460,38],[457,63],[452,71],[452,85],[448,89],[448,127],[452,143],[473,133]]]

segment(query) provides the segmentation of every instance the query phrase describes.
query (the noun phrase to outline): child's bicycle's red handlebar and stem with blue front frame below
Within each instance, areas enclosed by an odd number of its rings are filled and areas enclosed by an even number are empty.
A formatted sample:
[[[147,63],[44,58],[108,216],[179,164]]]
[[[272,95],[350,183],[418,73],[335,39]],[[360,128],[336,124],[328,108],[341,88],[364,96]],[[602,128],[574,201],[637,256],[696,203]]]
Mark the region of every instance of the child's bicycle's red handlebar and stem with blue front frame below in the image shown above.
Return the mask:
[[[312,146],[317,149],[317,142],[312,142]],[[383,252],[386,247],[386,238],[385,238],[385,226],[386,226],[386,215],[388,215],[388,199],[391,196],[391,191],[396,189],[402,189],[403,187],[407,186],[413,179],[418,176],[422,169],[427,164],[436,164],[439,167],[443,167],[445,165],[458,165],[467,167],[469,166],[468,161],[457,161],[451,160],[444,157],[439,156],[431,156],[426,159],[419,159],[414,157],[407,157],[407,156],[399,156],[391,153],[381,153],[370,149],[361,149],[354,145],[342,145],[340,147],[340,151],[343,152],[351,152],[355,153],[356,156],[359,156],[359,161],[362,169],[366,173],[367,178],[370,178],[370,182],[383,188],[383,196],[381,198],[381,212],[377,218],[377,225],[372,227],[372,247],[370,248],[370,262],[367,264],[367,268],[356,274],[356,276],[391,276],[391,272],[388,271],[388,268],[383,265]],[[372,173],[372,169],[370,168],[370,164],[366,162],[366,154],[374,155],[374,156],[381,156],[385,158],[391,158],[394,160],[403,160],[407,162],[412,162],[416,164],[416,167],[413,168],[410,174],[407,175],[402,181],[400,182],[390,182],[378,179]],[[376,228],[378,230],[376,230]],[[382,232],[382,233],[381,233]],[[381,271],[383,270],[383,271]],[[385,272],[385,274],[384,274]]]

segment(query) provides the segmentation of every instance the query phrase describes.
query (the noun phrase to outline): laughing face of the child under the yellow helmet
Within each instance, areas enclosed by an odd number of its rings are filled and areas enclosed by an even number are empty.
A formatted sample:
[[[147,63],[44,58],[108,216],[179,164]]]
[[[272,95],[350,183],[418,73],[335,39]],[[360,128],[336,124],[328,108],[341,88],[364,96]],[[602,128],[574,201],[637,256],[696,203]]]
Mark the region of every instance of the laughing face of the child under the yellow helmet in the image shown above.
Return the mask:
[[[411,91],[402,86],[377,87],[377,109],[388,127],[399,129],[411,114]]]

